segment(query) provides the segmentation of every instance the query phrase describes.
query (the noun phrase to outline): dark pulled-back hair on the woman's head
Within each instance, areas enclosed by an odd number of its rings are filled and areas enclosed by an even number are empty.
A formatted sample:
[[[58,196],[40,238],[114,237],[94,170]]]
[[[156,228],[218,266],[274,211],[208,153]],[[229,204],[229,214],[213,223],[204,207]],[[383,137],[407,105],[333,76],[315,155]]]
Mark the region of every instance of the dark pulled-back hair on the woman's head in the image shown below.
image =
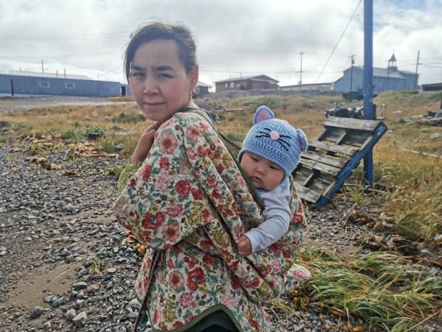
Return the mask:
[[[148,23],[133,34],[124,54],[124,74],[129,81],[130,63],[135,51],[142,44],[158,39],[172,40],[178,46],[178,59],[183,64],[187,74],[190,74],[196,64],[196,46],[192,33],[183,24]]]

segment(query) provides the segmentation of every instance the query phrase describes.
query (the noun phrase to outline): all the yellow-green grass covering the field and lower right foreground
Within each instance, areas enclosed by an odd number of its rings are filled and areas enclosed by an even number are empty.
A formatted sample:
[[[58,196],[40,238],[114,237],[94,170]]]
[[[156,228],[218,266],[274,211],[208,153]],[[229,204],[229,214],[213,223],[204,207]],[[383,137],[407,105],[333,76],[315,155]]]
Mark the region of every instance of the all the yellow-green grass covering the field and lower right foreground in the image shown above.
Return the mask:
[[[418,124],[418,119],[439,109],[441,94],[394,91],[374,102],[386,105],[383,119],[389,130],[374,146],[374,177],[382,190],[366,190],[363,166],[356,168],[333,201],[364,207],[374,241],[386,236],[401,238],[417,248],[406,254],[393,247],[356,250],[341,255],[331,248],[304,246],[299,259],[314,278],[290,294],[290,301],[274,300],[274,310],[302,312],[315,304],[342,317],[361,318],[364,326],[349,331],[420,331],[425,321],[441,321],[442,315],[442,128]],[[118,99],[115,101],[122,101]],[[44,156],[49,149],[85,144],[95,153],[130,156],[146,121],[132,99],[106,106],[53,106],[1,114],[0,144],[28,144],[26,153]],[[322,131],[324,109],[341,103],[341,96],[207,96],[200,106],[220,111],[217,129],[233,141],[242,141],[253,111],[267,105],[274,113],[302,128],[310,140]],[[346,103],[346,106],[361,106]],[[413,121],[416,120],[416,121]],[[66,154],[68,157],[68,154]],[[120,168],[110,167],[118,176]],[[327,208],[327,206],[325,207]],[[381,241],[379,240],[379,243]],[[362,247],[360,248],[362,249]],[[372,248],[373,249],[373,248]],[[431,251],[436,259],[422,258]]]

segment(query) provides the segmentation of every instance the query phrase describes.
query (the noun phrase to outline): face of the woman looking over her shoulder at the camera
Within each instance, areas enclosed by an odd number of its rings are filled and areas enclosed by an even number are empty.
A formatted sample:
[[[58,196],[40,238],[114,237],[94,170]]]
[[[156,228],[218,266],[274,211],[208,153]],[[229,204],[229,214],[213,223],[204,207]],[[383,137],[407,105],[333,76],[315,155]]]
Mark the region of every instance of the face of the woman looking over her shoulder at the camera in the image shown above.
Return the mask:
[[[169,119],[189,106],[197,81],[197,66],[186,73],[175,41],[158,39],[141,44],[130,62],[130,91],[152,121]]]

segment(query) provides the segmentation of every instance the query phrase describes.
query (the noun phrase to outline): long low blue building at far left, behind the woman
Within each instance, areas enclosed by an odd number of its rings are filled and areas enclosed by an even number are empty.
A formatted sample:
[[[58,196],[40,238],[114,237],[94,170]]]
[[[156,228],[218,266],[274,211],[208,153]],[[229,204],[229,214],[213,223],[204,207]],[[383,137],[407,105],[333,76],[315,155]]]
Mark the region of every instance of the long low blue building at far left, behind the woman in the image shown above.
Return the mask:
[[[127,84],[82,75],[9,71],[0,74],[0,96],[130,96]]]

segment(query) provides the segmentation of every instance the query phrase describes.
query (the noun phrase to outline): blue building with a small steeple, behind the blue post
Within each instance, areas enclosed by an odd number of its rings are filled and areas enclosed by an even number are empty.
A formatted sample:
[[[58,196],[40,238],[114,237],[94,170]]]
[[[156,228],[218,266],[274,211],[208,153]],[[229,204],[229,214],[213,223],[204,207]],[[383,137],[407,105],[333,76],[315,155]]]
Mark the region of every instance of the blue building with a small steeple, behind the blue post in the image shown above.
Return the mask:
[[[393,90],[417,90],[418,74],[399,70],[394,54],[387,68],[373,68],[374,92]],[[334,91],[349,92],[364,89],[364,66],[351,66],[344,76],[334,82]]]

